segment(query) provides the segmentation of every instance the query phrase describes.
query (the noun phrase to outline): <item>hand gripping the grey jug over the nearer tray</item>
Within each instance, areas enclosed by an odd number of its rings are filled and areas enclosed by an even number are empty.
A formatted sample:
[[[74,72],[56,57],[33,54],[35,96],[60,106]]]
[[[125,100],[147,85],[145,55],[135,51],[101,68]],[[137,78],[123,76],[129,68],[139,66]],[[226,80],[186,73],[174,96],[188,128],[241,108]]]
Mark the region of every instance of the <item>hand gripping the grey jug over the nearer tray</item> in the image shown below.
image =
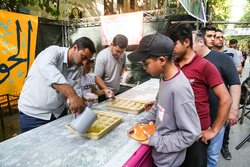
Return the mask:
[[[71,113],[80,114],[85,106],[86,102],[78,95],[69,97],[69,110]]]

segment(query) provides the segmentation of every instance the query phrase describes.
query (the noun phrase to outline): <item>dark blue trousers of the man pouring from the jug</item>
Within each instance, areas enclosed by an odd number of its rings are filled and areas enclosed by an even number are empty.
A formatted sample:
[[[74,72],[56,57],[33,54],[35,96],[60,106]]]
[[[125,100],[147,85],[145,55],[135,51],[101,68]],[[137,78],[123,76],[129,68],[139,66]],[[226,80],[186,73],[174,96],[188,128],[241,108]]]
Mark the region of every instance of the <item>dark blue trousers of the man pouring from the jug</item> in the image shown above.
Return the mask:
[[[27,132],[31,129],[37,128],[41,125],[44,125],[56,119],[56,117],[53,114],[51,115],[50,120],[43,120],[43,119],[28,116],[24,114],[22,111],[19,111],[19,113],[20,113],[20,126],[21,126],[22,133]],[[67,108],[64,109],[64,111],[59,116],[59,118],[65,115],[67,115]]]

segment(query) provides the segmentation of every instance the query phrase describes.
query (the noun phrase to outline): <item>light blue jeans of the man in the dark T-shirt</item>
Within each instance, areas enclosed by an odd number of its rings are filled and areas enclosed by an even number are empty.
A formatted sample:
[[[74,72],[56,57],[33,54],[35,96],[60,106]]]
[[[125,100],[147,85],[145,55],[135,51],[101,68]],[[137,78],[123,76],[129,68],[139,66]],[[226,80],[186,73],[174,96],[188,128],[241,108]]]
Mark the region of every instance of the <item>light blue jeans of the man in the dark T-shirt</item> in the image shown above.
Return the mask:
[[[219,161],[220,150],[222,147],[225,126],[221,128],[219,133],[210,140],[207,150],[207,167],[216,167]]]

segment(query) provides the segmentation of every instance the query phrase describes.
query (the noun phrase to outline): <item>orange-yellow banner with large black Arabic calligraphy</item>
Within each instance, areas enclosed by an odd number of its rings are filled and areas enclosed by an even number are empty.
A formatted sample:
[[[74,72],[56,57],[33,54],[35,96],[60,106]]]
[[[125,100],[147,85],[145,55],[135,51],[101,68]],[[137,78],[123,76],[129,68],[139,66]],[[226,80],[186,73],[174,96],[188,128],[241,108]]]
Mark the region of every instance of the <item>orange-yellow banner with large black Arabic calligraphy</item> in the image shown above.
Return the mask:
[[[16,94],[35,58],[38,17],[0,10],[0,95]]]

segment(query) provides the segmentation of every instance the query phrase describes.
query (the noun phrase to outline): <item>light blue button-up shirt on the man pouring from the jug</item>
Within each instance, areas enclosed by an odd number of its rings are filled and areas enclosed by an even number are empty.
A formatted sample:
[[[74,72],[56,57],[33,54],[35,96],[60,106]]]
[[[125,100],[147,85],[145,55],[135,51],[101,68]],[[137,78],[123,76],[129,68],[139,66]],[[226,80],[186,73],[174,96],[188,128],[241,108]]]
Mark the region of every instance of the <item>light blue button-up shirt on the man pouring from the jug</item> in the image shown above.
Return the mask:
[[[18,101],[18,109],[26,115],[49,120],[52,113],[57,118],[63,112],[66,97],[52,84],[69,84],[78,95],[81,93],[77,79],[82,68],[69,67],[68,48],[50,46],[34,60]]]

